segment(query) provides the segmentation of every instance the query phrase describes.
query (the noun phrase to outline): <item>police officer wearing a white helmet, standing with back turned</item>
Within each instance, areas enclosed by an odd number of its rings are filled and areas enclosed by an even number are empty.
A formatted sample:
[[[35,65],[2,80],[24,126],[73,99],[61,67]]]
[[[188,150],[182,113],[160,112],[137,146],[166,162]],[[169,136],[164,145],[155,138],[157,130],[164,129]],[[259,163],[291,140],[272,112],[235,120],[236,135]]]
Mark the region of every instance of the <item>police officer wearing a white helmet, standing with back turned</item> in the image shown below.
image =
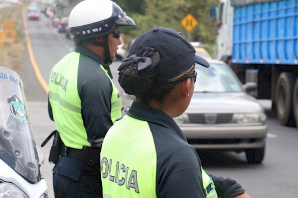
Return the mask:
[[[49,115],[57,130],[49,158],[56,163],[55,198],[102,197],[101,144],[121,117],[109,64],[122,42],[119,28],[128,25],[134,20],[111,0],[83,0],[70,13],[75,49],[52,68],[49,81]]]

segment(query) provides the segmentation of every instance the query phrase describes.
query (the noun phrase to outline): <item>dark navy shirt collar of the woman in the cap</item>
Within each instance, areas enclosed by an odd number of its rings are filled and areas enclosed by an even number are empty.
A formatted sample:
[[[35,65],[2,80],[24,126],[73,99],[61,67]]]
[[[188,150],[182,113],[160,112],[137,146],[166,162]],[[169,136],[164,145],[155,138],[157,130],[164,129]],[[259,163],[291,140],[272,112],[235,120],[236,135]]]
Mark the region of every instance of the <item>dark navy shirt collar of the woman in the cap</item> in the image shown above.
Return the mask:
[[[148,122],[162,125],[170,129],[172,132],[177,134],[181,139],[186,141],[184,134],[182,133],[181,129],[176,124],[176,122],[168,114],[166,114],[164,111],[160,109],[154,108],[147,104],[134,101],[131,105],[131,108],[127,112],[127,114],[139,120],[145,120]]]

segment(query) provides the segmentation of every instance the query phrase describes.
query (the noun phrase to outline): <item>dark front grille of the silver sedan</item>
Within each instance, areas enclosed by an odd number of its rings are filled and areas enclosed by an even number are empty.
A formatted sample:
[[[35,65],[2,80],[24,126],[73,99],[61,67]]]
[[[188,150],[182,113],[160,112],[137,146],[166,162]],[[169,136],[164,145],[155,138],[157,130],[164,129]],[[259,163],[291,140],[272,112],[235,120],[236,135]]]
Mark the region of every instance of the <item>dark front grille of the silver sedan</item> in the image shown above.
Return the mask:
[[[231,123],[233,114],[188,114],[190,123],[196,124],[224,124]]]

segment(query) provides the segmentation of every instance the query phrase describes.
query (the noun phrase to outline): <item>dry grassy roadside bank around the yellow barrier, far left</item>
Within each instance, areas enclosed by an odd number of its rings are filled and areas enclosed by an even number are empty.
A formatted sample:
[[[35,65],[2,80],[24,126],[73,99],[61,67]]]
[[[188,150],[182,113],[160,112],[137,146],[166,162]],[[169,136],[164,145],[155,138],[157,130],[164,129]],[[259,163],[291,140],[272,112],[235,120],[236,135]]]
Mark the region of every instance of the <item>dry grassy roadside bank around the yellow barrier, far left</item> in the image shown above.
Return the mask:
[[[25,4],[11,5],[0,9],[0,29],[3,28],[5,19],[14,19],[16,31],[14,41],[6,41],[0,46],[0,65],[9,67],[17,73],[21,71],[21,58],[24,50],[22,9],[26,6]]]

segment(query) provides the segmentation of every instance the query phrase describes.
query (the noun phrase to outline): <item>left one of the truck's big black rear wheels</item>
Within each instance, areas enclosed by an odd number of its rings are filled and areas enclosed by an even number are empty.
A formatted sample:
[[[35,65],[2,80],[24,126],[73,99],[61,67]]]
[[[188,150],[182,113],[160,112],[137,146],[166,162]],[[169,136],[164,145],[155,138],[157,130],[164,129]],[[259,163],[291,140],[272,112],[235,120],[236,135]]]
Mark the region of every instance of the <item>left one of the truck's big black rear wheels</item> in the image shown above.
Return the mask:
[[[276,112],[282,125],[294,126],[293,116],[293,92],[296,75],[291,72],[283,72],[278,78],[276,85]]]

